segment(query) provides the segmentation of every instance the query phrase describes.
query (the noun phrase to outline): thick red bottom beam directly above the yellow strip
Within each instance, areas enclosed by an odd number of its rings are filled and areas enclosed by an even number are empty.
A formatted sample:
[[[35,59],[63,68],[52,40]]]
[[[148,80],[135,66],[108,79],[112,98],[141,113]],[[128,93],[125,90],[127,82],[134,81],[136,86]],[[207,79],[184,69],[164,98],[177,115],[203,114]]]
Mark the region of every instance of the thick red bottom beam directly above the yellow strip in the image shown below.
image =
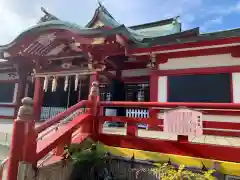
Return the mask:
[[[98,140],[108,146],[182,156],[240,162],[240,148],[207,144],[191,144],[177,141],[141,138],[121,135],[99,135]]]

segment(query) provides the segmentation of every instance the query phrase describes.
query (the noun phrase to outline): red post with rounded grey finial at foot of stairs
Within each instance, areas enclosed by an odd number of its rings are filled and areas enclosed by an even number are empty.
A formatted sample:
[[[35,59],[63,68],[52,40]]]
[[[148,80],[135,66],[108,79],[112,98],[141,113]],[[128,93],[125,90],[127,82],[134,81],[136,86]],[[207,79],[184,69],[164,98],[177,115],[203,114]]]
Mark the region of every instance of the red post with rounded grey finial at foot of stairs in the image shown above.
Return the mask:
[[[17,119],[14,120],[12,144],[9,153],[7,180],[17,180],[20,161],[24,159],[27,144],[28,122],[33,117],[33,100],[23,98],[19,108]],[[36,149],[35,149],[36,152]]]

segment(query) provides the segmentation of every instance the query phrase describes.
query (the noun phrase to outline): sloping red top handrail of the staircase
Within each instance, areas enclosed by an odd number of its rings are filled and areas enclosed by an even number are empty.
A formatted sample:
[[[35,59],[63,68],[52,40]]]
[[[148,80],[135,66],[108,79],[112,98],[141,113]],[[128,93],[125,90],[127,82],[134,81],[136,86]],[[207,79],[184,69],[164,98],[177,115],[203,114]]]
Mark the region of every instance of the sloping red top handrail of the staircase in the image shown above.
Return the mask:
[[[50,126],[60,122],[63,118],[66,118],[67,116],[69,116],[71,113],[73,113],[74,111],[76,111],[77,109],[83,107],[83,106],[87,106],[88,105],[87,100],[83,100],[80,101],[79,103],[75,104],[74,106],[68,108],[66,111],[63,111],[61,113],[59,113],[57,116],[50,118],[49,120],[47,120],[46,122],[44,122],[43,124],[41,124],[40,126],[38,126],[36,128],[36,132],[39,134],[41,132],[43,132],[45,129],[49,128]]]

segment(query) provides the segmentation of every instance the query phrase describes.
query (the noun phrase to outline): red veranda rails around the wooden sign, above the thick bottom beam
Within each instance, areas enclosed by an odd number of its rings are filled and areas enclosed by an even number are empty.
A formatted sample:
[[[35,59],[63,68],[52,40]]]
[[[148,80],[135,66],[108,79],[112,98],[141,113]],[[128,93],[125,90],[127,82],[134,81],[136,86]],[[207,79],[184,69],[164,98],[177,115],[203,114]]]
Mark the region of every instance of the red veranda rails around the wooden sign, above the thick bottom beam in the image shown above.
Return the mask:
[[[134,119],[136,122],[150,125],[151,129],[163,130],[163,119],[158,119],[160,109],[188,107],[201,110],[204,115],[208,115],[214,111],[215,114],[219,111],[220,115],[224,111],[227,114],[240,116],[240,104],[233,103],[158,103],[158,102],[100,102],[102,107],[126,107],[126,108],[149,108],[150,118],[126,118],[126,117],[105,117],[106,121],[126,122]],[[228,111],[227,111],[228,110]],[[233,112],[233,113],[231,113]],[[212,114],[212,113],[211,113]],[[236,122],[217,122],[215,119],[208,119],[203,122],[204,134],[216,136],[240,136],[240,120]],[[214,130],[209,130],[214,129]]]

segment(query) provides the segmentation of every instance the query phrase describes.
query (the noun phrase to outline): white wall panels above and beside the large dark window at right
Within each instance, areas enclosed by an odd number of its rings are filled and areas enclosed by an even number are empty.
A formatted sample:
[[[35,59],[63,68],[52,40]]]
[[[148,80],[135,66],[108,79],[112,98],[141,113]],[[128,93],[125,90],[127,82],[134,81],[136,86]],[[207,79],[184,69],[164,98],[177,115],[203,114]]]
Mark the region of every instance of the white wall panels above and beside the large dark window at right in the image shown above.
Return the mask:
[[[169,59],[167,63],[159,65],[159,70],[179,70],[238,65],[240,65],[240,58],[233,58],[231,54],[222,54]],[[233,102],[240,103],[240,72],[232,73],[232,85]],[[158,101],[167,102],[167,76],[159,76],[158,78]]]

